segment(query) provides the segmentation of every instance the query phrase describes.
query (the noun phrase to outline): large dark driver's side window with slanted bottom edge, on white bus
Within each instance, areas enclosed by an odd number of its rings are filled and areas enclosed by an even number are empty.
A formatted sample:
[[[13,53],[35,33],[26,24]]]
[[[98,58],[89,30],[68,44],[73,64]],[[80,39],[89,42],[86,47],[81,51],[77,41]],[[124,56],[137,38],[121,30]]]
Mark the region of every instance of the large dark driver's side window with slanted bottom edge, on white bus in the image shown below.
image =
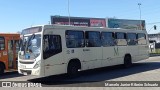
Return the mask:
[[[43,37],[43,58],[47,59],[62,52],[60,35],[44,35]]]

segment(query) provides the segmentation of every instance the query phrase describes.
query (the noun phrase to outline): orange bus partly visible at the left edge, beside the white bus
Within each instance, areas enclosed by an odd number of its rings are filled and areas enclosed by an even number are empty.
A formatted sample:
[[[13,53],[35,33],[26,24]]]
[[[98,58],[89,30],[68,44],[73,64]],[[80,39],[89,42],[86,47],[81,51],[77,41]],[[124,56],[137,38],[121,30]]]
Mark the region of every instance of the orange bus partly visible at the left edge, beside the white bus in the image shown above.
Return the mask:
[[[20,34],[0,33],[0,74],[17,70]]]

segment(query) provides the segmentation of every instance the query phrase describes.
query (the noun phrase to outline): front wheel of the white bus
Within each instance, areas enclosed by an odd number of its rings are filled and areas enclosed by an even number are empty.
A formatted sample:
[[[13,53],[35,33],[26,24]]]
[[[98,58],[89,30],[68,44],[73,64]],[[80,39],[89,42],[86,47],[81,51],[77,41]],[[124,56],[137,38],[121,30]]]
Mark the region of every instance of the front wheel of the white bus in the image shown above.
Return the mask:
[[[67,73],[70,78],[75,78],[78,76],[78,65],[76,62],[70,62],[67,68]]]

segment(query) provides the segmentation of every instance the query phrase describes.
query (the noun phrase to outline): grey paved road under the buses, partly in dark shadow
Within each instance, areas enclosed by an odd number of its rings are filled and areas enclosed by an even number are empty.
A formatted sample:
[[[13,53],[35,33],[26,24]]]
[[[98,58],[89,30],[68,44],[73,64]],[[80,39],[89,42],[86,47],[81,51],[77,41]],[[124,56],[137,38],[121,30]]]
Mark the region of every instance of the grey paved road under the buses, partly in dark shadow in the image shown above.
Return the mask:
[[[80,77],[75,79],[69,79],[65,75],[52,76],[43,79],[35,78],[36,76],[23,76],[19,75],[17,72],[13,72],[1,76],[0,81],[39,82],[42,83],[42,85],[49,87],[95,87],[103,86],[105,81],[160,81],[160,57],[150,57],[147,60],[133,64],[132,67],[127,69],[119,65],[85,71],[81,73]],[[113,88],[114,87],[111,87],[110,89]],[[142,89],[144,89],[144,87]]]

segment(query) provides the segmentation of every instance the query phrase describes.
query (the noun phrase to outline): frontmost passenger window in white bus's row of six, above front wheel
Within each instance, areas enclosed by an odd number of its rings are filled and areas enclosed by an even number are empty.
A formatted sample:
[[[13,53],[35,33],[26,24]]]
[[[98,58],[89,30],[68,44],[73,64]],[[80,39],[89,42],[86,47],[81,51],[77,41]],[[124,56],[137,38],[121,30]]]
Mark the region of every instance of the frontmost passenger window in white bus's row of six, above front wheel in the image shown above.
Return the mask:
[[[66,31],[66,45],[68,48],[84,47],[84,32]]]

